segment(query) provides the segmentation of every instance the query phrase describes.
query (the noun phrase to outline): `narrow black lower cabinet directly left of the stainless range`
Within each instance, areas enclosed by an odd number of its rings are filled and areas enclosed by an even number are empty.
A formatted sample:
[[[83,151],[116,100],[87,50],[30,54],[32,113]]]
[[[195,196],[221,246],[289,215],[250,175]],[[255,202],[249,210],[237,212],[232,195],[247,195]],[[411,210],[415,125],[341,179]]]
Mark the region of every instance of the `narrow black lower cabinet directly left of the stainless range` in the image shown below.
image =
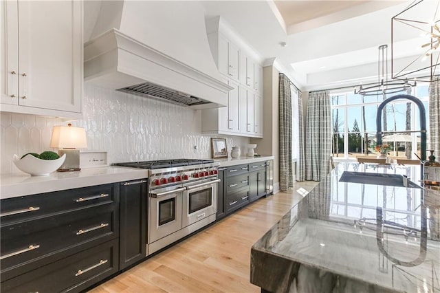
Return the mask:
[[[146,257],[146,180],[120,184],[120,269]]]

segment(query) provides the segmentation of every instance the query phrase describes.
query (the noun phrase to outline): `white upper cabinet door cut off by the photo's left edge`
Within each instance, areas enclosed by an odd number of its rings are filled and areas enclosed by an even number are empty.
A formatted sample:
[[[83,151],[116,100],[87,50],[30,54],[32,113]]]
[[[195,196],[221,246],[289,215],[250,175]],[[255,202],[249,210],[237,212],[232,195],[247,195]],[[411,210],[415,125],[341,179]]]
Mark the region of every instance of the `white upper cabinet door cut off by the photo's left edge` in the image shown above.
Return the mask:
[[[18,105],[19,28],[16,1],[1,1],[0,21],[0,102]]]

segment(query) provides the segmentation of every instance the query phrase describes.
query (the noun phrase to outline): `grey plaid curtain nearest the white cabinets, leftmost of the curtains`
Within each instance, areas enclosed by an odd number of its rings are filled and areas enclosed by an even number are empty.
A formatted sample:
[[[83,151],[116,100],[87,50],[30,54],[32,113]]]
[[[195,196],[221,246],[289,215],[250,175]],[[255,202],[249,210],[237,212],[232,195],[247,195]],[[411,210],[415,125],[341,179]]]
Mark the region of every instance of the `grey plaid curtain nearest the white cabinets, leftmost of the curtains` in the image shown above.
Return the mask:
[[[287,191],[294,186],[292,168],[292,93],[290,80],[280,74],[280,189]]]

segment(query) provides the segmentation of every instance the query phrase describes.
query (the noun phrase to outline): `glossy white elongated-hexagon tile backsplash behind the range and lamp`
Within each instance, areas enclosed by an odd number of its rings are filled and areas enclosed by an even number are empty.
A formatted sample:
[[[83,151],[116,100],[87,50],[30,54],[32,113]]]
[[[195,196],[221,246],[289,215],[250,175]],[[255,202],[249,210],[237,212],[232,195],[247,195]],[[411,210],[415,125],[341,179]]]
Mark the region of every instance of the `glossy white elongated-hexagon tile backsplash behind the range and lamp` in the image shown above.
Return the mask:
[[[108,160],[127,162],[170,158],[210,158],[210,138],[227,138],[244,147],[248,138],[228,135],[202,135],[201,113],[161,100],[85,85],[83,120],[87,149],[107,151]],[[49,147],[52,127],[65,125],[58,118],[17,113],[1,113],[1,173],[19,173],[12,155],[41,153]],[[194,150],[197,146],[197,150]]]

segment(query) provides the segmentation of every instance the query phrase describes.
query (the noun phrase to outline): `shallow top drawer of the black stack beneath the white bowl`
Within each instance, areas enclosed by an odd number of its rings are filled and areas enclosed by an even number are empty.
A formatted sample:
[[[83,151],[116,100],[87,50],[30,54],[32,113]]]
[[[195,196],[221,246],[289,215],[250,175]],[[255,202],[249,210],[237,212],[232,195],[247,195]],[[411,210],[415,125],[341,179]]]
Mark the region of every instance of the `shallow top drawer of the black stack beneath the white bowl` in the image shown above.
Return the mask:
[[[87,206],[118,202],[118,184],[104,184],[84,188],[41,193],[2,199],[0,205],[1,226],[14,221],[43,217],[63,210],[75,210]],[[118,202],[119,203],[119,202]]]

